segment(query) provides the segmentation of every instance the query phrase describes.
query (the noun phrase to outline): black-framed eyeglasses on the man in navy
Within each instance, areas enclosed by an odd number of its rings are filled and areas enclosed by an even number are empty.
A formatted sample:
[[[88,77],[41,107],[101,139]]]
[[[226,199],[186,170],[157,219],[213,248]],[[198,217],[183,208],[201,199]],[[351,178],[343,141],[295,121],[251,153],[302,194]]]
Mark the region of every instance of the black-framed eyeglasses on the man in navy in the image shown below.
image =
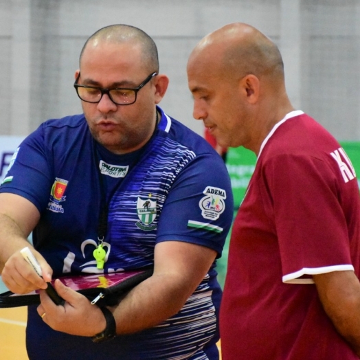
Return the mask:
[[[89,87],[87,85],[78,85],[80,72],[74,82],[74,87],[78,97],[85,102],[92,102],[93,104],[100,102],[104,93],[109,96],[110,100],[117,105],[131,105],[136,101],[137,91],[142,89],[157,72],[150,74],[138,87],[118,87],[115,89],[104,89],[103,87]]]

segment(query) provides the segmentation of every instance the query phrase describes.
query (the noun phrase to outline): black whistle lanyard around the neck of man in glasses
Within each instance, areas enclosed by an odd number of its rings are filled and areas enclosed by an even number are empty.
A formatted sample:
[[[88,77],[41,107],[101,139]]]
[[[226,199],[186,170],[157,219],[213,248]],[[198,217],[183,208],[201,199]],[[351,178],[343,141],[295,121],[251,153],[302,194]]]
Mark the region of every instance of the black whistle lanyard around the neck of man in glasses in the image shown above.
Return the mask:
[[[158,121],[159,121],[159,113],[158,113],[158,111],[156,111],[156,121],[155,121],[155,128],[154,128],[153,134],[151,135],[148,142],[142,147],[142,151],[140,151],[139,154],[137,155],[137,157],[131,162],[131,165],[129,166],[129,172],[131,172],[131,170],[133,169],[133,165],[137,164],[140,157],[142,157],[142,155],[144,154],[144,150],[146,150],[147,145],[150,143],[150,140],[153,139],[153,137],[156,133],[156,130],[157,130]],[[100,189],[101,189],[100,212],[99,212],[99,220],[98,220],[98,242],[99,242],[99,245],[101,245],[102,242],[104,241],[106,233],[107,233],[109,205],[110,205],[111,199],[113,199],[113,195],[120,188],[122,181],[119,181],[119,183],[117,183],[115,188],[111,191],[109,200],[106,201],[104,178],[100,171],[100,157],[98,155],[98,150],[96,149],[95,139],[93,139],[93,153],[94,153],[94,159],[95,159],[95,166],[96,166],[96,169],[98,170],[98,178],[99,178]]]

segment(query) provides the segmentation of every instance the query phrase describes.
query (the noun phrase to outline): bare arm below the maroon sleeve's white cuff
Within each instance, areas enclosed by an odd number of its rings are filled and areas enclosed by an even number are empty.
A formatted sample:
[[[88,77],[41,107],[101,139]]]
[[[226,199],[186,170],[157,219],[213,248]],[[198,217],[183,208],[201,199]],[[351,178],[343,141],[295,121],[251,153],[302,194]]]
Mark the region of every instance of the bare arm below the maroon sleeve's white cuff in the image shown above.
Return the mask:
[[[360,283],[355,273],[335,271],[314,275],[314,280],[328,317],[360,357]]]

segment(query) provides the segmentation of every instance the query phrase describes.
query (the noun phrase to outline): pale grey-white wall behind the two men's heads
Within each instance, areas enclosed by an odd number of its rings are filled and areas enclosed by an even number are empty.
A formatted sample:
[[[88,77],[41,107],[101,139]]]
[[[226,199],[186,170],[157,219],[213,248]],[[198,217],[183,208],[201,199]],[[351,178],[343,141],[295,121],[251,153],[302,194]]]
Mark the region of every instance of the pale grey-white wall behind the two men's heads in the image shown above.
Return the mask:
[[[74,71],[100,27],[142,28],[159,48],[170,87],[161,106],[198,133],[185,66],[194,45],[226,23],[258,27],[284,57],[298,109],[340,140],[360,139],[360,1],[0,0],[0,134],[27,135],[51,117],[80,113]]]

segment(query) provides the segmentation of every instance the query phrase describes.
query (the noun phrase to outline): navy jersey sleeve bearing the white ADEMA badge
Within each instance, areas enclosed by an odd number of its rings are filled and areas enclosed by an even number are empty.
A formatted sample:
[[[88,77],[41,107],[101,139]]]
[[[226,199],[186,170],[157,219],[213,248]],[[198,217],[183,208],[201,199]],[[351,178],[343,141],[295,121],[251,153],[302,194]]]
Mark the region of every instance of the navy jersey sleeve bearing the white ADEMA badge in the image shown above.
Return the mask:
[[[199,155],[178,175],[161,211],[157,242],[179,240],[218,252],[232,224],[234,201],[221,157]]]

